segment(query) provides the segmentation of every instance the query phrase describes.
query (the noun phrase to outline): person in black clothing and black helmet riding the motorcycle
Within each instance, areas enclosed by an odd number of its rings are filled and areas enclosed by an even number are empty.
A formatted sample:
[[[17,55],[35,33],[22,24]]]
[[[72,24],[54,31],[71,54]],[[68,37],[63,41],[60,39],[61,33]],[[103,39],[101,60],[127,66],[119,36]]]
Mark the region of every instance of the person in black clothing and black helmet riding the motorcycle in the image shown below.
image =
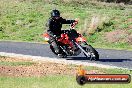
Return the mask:
[[[52,10],[51,17],[47,23],[47,33],[50,35],[49,43],[53,46],[55,52],[59,57],[62,57],[62,53],[59,50],[59,46],[57,45],[56,39],[58,39],[61,35],[62,24],[72,24],[77,22],[76,20],[66,20],[60,16],[59,10]]]

